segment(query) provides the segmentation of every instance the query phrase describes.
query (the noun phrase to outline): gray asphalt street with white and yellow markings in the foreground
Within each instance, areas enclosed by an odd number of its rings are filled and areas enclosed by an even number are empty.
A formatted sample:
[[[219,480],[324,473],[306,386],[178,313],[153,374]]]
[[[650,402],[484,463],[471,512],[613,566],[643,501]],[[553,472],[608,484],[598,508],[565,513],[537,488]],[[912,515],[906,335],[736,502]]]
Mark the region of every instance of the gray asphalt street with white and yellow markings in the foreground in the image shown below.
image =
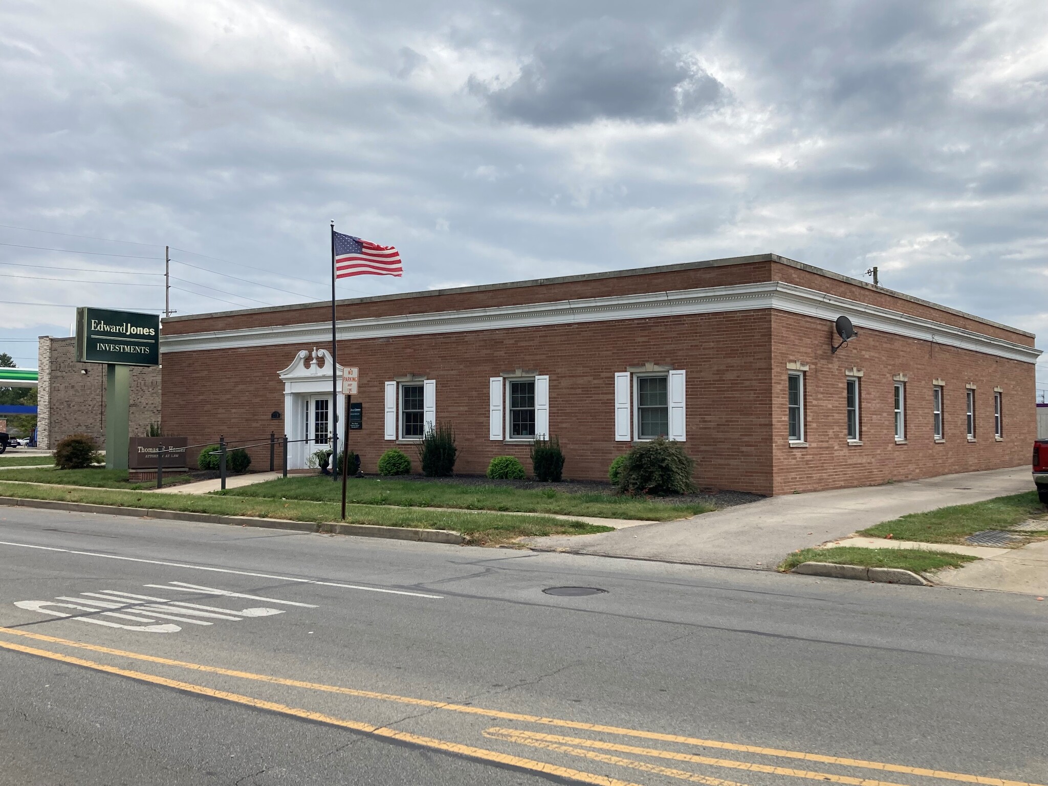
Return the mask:
[[[1048,784],[1046,665],[1028,595],[0,508],[0,784]]]

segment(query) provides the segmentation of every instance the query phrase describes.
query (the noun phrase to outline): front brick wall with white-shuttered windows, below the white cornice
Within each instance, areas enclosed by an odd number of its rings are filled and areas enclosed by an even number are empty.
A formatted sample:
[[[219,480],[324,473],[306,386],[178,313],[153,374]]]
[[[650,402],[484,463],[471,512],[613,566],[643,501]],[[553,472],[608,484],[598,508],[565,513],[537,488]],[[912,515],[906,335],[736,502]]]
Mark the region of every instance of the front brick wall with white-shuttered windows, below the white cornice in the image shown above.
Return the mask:
[[[770,493],[766,450],[769,312],[673,316],[618,323],[486,330],[431,336],[342,342],[339,357],[361,369],[364,428],[350,433],[366,472],[390,447],[418,468],[414,444],[384,439],[384,383],[409,373],[436,379],[437,419],[456,430],[456,472],[483,474],[494,456],[517,456],[530,470],[528,447],[488,439],[488,379],[516,368],[549,375],[550,431],[567,457],[565,476],[606,479],[612,459],[629,450],[615,441],[614,374],[648,362],[685,369],[687,439],[697,480],[706,486]],[[284,423],[283,385],[277,376],[300,349],[172,352],[163,355],[163,423],[190,443],[267,437]],[[243,385],[250,369],[250,385]],[[268,466],[268,447],[253,453]]]

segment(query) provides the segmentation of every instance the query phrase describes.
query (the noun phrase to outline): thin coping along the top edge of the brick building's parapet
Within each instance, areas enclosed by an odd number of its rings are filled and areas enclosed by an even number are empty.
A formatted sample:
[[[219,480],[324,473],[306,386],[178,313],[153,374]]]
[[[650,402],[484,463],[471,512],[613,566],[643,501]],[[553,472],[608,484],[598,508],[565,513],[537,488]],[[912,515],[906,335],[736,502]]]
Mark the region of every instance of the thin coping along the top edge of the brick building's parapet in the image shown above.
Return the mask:
[[[923,300],[921,298],[915,298],[912,294],[907,294],[905,292],[898,292],[894,289],[888,289],[882,286],[874,286],[868,281],[861,281],[859,279],[853,279],[850,276],[843,276],[839,272],[833,272],[832,270],[827,270],[822,267],[815,267],[814,265],[809,265],[804,262],[798,262],[793,259],[788,259],[787,257],[780,257],[778,254],[754,254],[747,257],[725,257],[724,259],[712,259],[701,262],[679,262],[672,265],[655,265],[653,267],[631,267],[625,270],[607,270],[603,272],[586,272],[576,276],[559,276],[551,279],[528,279],[526,281],[508,281],[499,284],[477,284],[474,286],[458,286],[447,289],[422,289],[414,292],[395,292],[393,294],[373,294],[366,298],[346,298],[343,300],[336,300],[336,305],[350,305],[353,303],[374,303],[377,301],[387,300],[402,300],[407,298],[429,298],[437,297],[441,294],[456,294],[459,292],[485,292],[493,291],[497,289],[514,289],[518,287],[529,287],[529,286],[542,286],[544,284],[568,284],[575,281],[594,281],[598,279],[615,279],[624,278],[627,276],[643,276],[647,274],[656,272],[675,272],[678,270],[694,270],[702,267],[720,267],[723,265],[744,265],[751,262],[779,262],[780,264],[789,265],[791,267],[796,267],[801,270],[807,270],[808,272],[813,272],[817,276],[825,276],[826,278],[836,279],[837,281],[843,281],[848,284],[854,284],[855,286],[860,286],[866,289],[870,289],[875,292],[882,292],[886,294],[891,294],[895,298],[901,298],[902,300],[908,300],[912,303],[919,303],[922,306],[929,306],[931,308],[938,308],[941,311],[946,311],[947,313],[956,314],[958,316],[963,316],[968,320],[975,320],[976,322],[981,322],[984,325],[992,325],[994,327],[1002,328],[1004,330],[1010,330],[1014,333],[1021,335],[1028,335],[1031,339],[1034,337],[1034,333],[1027,330],[1022,330],[1010,325],[1005,325],[1000,322],[995,322],[994,320],[987,320],[983,316],[978,316],[967,311],[961,311],[957,308],[951,308],[949,306],[943,306],[940,303],[933,303],[932,301]],[[196,314],[185,314],[183,316],[166,316],[163,322],[183,322],[188,320],[199,320],[209,316],[230,316],[233,314],[253,314],[253,313],[272,313],[276,311],[292,311],[301,308],[316,308],[318,305],[327,305],[330,301],[310,301],[309,303],[291,303],[285,306],[266,306],[264,308],[237,308],[226,311],[205,311],[203,313]]]

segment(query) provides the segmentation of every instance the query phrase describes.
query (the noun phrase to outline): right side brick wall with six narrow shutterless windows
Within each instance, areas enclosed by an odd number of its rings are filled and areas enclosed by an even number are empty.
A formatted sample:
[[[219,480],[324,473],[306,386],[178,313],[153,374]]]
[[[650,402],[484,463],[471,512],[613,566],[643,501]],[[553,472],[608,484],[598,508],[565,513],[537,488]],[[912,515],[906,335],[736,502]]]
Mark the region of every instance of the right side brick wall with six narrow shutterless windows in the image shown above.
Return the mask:
[[[1018,466],[1029,462],[1036,435],[1034,366],[1030,363],[944,347],[876,330],[863,330],[836,354],[830,352],[832,324],[773,312],[771,401],[774,493],[873,485],[951,473]],[[808,365],[805,373],[805,440],[789,446],[787,363]],[[846,371],[860,378],[861,445],[849,445]],[[894,380],[905,374],[905,444],[895,441]],[[932,383],[945,383],[944,442],[932,428]],[[976,441],[966,438],[965,385],[976,389]],[[994,388],[1003,389],[1004,439],[994,438]]]

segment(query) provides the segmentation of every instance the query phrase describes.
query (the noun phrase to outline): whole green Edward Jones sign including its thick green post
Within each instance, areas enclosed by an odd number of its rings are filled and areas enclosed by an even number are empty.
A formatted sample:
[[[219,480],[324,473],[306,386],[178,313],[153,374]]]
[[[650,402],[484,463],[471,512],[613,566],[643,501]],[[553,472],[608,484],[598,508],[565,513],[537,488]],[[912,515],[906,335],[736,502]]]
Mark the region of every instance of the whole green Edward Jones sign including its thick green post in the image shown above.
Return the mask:
[[[106,468],[128,468],[131,366],[160,365],[160,318],[77,309],[77,361],[106,366]]]

